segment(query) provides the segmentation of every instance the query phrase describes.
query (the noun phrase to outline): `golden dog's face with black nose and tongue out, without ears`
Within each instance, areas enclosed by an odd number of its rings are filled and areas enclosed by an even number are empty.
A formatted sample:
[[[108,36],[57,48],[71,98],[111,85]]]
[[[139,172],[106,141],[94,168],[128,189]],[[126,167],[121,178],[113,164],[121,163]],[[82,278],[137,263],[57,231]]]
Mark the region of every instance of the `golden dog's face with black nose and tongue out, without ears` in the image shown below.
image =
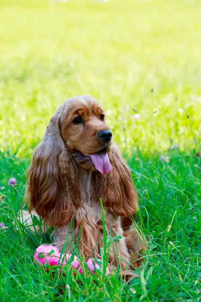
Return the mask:
[[[60,122],[62,137],[76,164],[108,174],[112,169],[108,157],[112,132],[99,103],[91,97],[70,99]]]

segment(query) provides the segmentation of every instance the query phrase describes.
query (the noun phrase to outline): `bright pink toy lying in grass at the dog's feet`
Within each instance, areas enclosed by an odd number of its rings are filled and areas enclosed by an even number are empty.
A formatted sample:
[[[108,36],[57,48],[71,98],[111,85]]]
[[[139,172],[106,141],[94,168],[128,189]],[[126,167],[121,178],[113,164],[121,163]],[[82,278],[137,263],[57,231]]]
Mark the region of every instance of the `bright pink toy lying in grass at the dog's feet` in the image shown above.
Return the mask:
[[[59,265],[64,266],[66,262],[68,262],[70,257],[71,254],[65,254],[61,256],[61,253],[59,253],[59,250],[56,247],[52,245],[43,244],[38,247],[36,249],[36,252],[34,253],[34,263],[36,264],[37,262],[39,262],[42,265],[48,263],[50,266],[54,266],[59,263]],[[100,269],[100,266],[95,261],[92,261],[90,258],[86,261],[86,264],[93,274],[95,274],[95,268]],[[78,270],[80,274],[83,274],[83,268],[80,265],[80,262],[76,256],[74,256],[72,267]],[[107,267],[106,276],[109,273],[110,270]]]

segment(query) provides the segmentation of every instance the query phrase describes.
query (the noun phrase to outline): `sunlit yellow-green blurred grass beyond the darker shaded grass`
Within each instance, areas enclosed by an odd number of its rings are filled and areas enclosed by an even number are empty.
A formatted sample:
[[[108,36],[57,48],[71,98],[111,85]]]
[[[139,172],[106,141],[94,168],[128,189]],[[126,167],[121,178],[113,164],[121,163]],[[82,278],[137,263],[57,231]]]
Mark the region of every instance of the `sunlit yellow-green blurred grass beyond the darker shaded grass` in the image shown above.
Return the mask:
[[[63,101],[84,94],[102,103],[128,154],[198,148],[200,1],[2,0],[0,8],[2,152],[32,153]]]

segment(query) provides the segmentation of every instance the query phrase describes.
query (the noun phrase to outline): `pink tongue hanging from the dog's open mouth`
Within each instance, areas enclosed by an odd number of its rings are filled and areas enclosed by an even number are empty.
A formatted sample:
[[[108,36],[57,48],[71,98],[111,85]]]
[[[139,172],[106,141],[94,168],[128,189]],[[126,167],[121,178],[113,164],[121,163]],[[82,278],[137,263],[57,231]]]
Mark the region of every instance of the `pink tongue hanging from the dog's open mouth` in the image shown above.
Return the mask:
[[[94,153],[89,155],[95,169],[101,174],[108,174],[112,170],[112,166],[108,157],[108,153]]]

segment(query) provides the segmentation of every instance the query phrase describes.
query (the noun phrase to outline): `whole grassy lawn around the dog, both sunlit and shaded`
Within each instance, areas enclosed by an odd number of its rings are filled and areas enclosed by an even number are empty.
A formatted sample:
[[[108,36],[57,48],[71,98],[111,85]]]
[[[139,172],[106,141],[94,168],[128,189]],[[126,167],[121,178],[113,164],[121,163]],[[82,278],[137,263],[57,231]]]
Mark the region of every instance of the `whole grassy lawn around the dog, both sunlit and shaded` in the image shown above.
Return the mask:
[[[198,0],[1,1],[0,222],[9,228],[0,230],[0,300],[199,300],[200,9]],[[106,109],[140,197],[150,251],[131,283],[97,273],[79,284],[70,270],[52,276],[33,263],[49,237],[13,226],[49,118],[79,94]]]

